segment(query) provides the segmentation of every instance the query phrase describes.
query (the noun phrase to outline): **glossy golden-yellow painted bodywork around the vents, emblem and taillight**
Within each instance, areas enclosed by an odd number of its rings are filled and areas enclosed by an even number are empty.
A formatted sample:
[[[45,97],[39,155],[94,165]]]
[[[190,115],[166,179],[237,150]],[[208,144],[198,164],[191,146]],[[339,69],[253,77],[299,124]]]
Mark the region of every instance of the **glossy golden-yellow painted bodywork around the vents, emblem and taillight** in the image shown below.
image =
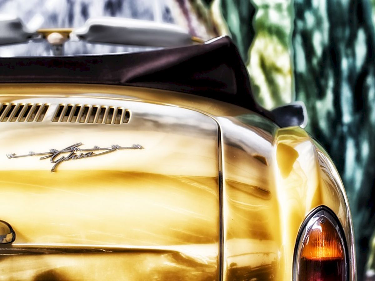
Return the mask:
[[[297,233],[331,208],[350,245],[350,210],[324,150],[238,106],[106,85],[1,85],[0,102],[48,103],[42,122],[0,123],[0,213],[17,234],[0,280],[291,280]],[[121,106],[127,124],[52,123],[61,104]],[[66,161],[6,154],[128,146]],[[17,255],[13,255],[15,253]]]

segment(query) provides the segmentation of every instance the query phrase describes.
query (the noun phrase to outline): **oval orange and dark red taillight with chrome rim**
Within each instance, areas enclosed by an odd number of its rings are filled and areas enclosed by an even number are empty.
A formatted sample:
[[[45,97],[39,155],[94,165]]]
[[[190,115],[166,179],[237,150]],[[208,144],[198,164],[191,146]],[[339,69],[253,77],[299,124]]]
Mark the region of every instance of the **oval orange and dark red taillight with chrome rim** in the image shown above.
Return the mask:
[[[347,281],[347,250],[341,224],[329,208],[308,216],[297,238],[294,281]]]

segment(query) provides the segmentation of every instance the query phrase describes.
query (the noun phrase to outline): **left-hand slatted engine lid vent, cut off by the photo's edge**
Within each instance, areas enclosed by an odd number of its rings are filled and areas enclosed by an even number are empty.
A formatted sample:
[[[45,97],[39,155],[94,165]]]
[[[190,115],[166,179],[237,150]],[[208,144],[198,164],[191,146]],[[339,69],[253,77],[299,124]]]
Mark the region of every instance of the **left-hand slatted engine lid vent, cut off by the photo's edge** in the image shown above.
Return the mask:
[[[0,122],[41,122],[48,108],[46,103],[0,103]]]

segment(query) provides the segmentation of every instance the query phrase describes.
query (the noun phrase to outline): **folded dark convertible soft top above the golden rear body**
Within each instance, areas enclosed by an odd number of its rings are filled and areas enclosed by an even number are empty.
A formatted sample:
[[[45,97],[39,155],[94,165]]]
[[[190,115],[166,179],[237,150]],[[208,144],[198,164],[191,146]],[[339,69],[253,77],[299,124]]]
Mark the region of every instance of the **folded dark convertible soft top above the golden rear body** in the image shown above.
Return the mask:
[[[272,116],[255,102],[246,67],[227,36],[201,45],[130,54],[0,58],[0,83],[157,88],[209,97]]]

